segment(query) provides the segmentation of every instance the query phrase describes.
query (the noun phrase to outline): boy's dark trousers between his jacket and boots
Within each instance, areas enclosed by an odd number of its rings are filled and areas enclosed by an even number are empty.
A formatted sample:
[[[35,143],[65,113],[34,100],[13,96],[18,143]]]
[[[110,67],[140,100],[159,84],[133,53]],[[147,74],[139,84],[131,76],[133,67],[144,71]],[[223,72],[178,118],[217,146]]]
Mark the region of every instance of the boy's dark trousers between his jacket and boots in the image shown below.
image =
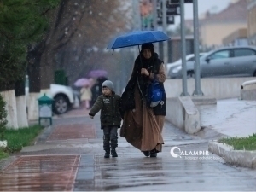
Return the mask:
[[[118,127],[117,126],[103,126],[103,148],[106,152],[114,150],[118,146]]]

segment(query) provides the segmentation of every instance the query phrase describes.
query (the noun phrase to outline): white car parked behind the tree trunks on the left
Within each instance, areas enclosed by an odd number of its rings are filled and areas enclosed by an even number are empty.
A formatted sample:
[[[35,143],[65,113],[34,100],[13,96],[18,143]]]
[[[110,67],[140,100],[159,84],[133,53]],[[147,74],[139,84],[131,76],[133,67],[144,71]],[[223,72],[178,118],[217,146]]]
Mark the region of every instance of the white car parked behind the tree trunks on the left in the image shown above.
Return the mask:
[[[26,103],[29,103],[29,82],[26,76]],[[50,84],[48,96],[54,99],[53,112],[56,114],[67,113],[67,110],[74,104],[75,94],[69,86],[61,84]]]

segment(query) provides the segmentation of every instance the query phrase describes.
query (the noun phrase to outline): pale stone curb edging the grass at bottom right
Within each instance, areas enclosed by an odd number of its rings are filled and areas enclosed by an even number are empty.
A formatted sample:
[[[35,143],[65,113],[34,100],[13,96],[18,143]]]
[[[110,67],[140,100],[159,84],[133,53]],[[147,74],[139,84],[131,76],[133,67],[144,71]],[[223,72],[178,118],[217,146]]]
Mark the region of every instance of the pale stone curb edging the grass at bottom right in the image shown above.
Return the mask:
[[[218,143],[217,140],[208,143],[208,150],[231,165],[256,169],[256,151],[234,150],[232,146]]]

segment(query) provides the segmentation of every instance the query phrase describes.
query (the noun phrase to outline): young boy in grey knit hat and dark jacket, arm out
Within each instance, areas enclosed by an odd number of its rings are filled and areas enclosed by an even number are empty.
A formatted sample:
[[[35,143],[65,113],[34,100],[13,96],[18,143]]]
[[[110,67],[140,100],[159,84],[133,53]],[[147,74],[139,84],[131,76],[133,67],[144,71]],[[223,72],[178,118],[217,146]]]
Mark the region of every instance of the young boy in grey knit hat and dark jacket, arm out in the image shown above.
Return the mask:
[[[90,109],[89,115],[93,119],[96,113],[101,110],[101,129],[103,130],[104,158],[109,158],[110,147],[112,157],[118,154],[115,148],[118,146],[117,130],[121,125],[121,115],[119,112],[120,96],[113,91],[113,83],[106,80],[102,84],[102,95],[97,97],[96,102]]]

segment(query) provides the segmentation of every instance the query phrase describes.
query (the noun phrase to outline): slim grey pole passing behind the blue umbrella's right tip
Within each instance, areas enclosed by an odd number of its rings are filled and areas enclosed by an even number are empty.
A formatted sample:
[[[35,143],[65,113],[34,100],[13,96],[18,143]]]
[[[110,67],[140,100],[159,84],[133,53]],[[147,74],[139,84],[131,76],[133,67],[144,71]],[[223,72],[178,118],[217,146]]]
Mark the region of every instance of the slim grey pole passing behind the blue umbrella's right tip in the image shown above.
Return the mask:
[[[163,5],[163,32],[167,34],[167,15],[166,15],[166,0],[162,0],[162,5]],[[167,73],[167,62],[168,62],[168,44],[167,41],[163,42],[163,55],[164,55],[164,63],[165,63],[165,71]]]

